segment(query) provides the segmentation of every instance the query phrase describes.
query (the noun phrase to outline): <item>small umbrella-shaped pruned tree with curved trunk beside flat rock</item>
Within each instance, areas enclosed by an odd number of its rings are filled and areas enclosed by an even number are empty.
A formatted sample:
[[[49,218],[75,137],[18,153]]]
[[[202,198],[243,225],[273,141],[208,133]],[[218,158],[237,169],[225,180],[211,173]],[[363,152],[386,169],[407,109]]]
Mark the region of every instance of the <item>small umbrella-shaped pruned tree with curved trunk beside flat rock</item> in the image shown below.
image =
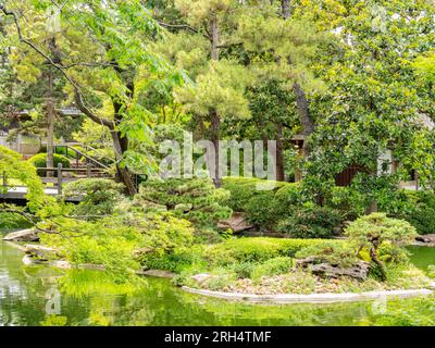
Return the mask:
[[[380,247],[384,243],[388,243],[390,248],[410,245],[415,239],[417,232],[407,221],[387,217],[385,213],[372,213],[352,222],[346,228],[346,235],[359,250],[370,250],[370,258],[378,266],[381,279],[385,281],[385,266],[378,258]]]

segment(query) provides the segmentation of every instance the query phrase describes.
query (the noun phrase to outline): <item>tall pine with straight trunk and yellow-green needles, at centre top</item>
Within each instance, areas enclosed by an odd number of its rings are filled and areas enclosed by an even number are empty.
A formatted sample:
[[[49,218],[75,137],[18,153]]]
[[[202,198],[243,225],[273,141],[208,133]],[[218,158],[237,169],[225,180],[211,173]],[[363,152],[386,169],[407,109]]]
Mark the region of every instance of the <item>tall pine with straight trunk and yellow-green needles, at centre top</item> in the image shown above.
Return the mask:
[[[213,163],[209,161],[210,176],[221,185],[220,153],[221,122],[227,116],[249,117],[248,102],[244,96],[249,73],[236,60],[222,54],[222,49],[238,45],[234,30],[243,5],[234,0],[175,0],[182,23],[161,23],[176,29],[172,47],[166,44],[162,52],[175,64],[185,69],[195,82],[175,90],[176,99],[194,114],[203,135],[214,147]]]

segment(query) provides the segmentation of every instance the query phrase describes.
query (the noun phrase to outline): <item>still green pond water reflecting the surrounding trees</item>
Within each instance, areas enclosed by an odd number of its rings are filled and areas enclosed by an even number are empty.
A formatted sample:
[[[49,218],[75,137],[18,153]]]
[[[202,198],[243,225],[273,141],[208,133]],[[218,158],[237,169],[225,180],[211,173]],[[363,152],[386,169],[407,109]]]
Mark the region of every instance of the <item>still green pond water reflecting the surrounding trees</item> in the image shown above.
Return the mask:
[[[415,264],[435,249],[413,248]],[[99,271],[26,266],[0,241],[0,325],[435,325],[434,300],[260,306],[187,294],[170,281],[116,284]]]

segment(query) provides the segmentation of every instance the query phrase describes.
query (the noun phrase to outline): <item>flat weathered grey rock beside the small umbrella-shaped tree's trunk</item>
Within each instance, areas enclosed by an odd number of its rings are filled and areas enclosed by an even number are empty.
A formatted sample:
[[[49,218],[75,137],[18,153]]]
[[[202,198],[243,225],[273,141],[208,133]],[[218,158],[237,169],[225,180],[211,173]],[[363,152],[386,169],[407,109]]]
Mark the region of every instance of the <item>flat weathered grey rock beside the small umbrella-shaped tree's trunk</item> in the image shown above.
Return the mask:
[[[296,266],[309,268],[313,274],[337,278],[340,276],[349,276],[359,281],[365,281],[369,274],[370,264],[365,261],[359,261],[351,268],[340,268],[337,264],[327,262],[316,263],[319,260],[314,257],[296,261]]]

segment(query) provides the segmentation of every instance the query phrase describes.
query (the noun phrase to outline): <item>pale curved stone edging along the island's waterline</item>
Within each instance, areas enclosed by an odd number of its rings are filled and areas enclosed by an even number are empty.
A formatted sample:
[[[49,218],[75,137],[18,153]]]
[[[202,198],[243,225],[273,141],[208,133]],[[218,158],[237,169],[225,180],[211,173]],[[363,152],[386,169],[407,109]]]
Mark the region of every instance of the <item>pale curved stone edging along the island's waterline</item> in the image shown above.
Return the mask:
[[[209,297],[222,298],[226,300],[243,300],[248,302],[264,302],[264,303],[333,303],[333,302],[357,302],[375,300],[385,297],[408,298],[418,296],[432,295],[430,289],[410,289],[410,290],[380,290],[368,293],[341,293],[341,294],[285,294],[285,295],[256,295],[243,293],[223,293],[211,291],[203,289],[195,289],[183,286],[183,290],[191,294],[203,295]]]

